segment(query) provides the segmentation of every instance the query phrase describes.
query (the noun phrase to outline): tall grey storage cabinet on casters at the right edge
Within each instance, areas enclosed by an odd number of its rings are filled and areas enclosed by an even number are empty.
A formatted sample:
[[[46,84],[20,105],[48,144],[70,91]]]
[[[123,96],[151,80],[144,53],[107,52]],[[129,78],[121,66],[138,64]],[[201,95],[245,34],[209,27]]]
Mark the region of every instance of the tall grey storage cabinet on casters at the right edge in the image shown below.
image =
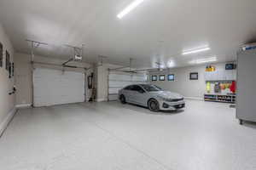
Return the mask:
[[[236,117],[241,124],[256,122],[256,50],[240,52],[237,57]]]

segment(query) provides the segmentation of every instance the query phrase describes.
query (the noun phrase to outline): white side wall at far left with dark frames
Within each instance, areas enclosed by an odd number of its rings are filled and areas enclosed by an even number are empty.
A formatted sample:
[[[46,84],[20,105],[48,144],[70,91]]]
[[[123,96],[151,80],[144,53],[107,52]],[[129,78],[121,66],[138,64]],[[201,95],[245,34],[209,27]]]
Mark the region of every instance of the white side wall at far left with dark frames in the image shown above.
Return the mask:
[[[0,68],[0,134],[3,128],[7,126],[15,112],[15,94],[9,95],[12,91],[15,78],[9,79],[9,71],[5,69],[5,51],[10,54],[10,61],[14,61],[15,49],[13,48],[9,37],[5,33],[3,26],[0,24],[0,42],[3,43],[3,68]]]

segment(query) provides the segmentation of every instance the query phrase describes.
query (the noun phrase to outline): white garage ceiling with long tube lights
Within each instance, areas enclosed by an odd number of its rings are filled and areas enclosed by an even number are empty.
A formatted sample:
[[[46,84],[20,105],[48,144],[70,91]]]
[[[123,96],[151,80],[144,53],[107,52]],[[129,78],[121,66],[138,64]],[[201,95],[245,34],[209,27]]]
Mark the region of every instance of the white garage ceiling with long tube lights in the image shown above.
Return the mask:
[[[238,47],[256,37],[255,0],[145,0],[122,20],[132,0],[1,0],[0,22],[16,51],[29,53],[26,39],[48,42],[36,54],[68,59],[63,44],[80,45],[86,59],[108,56],[113,64],[154,67],[189,65],[191,59],[236,59]],[[183,50],[212,50],[181,55]],[[170,64],[170,61],[172,63]],[[168,64],[169,62],[169,64]]]

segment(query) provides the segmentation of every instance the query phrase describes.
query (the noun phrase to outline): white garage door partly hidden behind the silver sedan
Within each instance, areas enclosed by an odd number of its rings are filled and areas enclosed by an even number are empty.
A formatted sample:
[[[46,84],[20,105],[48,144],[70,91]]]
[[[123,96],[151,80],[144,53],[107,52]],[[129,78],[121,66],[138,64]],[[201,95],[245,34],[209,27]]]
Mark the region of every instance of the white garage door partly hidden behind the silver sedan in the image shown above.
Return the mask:
[[[147,82],[147,75],[143,73],[109,71],[108,100],[117,100],[119,89],[125,88],[125,86],[145,82]]]

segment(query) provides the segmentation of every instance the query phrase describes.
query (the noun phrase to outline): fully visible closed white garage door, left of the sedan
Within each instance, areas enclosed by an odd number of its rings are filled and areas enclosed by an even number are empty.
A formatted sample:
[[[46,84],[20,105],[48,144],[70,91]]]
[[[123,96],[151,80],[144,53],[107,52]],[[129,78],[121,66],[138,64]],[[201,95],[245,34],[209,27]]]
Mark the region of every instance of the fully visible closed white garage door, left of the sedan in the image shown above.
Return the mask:
[[[34,77],[34,106],[84,102],[84,73],[37,68]]]

